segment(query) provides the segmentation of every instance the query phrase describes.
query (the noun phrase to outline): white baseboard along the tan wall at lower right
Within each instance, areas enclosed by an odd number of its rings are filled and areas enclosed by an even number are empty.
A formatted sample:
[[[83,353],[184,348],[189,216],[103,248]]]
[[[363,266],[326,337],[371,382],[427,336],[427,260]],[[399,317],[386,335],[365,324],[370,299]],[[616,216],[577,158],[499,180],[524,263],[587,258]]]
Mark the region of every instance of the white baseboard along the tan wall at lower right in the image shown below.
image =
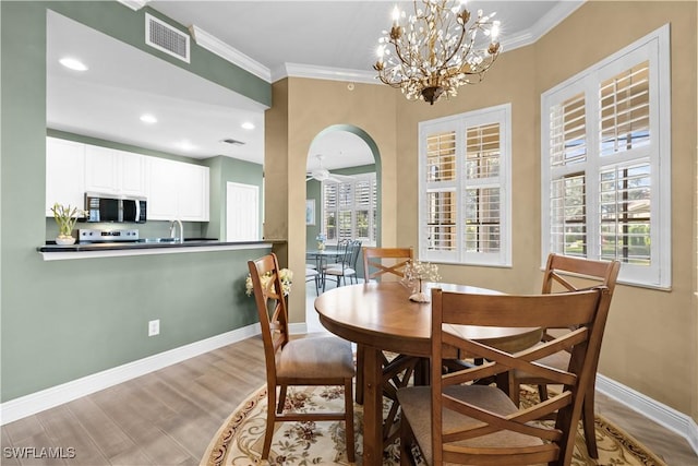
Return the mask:
[[[601,374],[597,391],[683,437],[698,455],[698,425],[691,417]]]

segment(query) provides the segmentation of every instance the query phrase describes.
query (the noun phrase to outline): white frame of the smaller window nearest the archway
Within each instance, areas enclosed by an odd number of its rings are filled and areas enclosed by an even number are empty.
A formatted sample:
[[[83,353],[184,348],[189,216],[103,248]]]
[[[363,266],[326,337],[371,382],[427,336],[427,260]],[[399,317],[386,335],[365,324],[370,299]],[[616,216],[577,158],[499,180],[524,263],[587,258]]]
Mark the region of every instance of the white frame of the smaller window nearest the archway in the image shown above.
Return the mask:
[[[500,222],[501,222],[501,242],[500,252],[466,252],[464,244],[465,228],[460,228],[461,222],[458,223],[459,247],[455,252],[429,251],[426,249],[428,239],[424,236],[422,226],[426,223],[428,214],[428,196],[426,196],[426,135],[428,132],[441,130],[453,130],[460,133],[456,138],[456,170],[458,179],[454,182],[458,193],[459,206],[462,205],[465,187],[465,164],[461,155],[465,154],[465,129],[473,126],[481,126],[492,122],[500,123],[501,134],[501,154],[500,154]],[[512,104],[503,104],[484,109],[468,111],[449,117],[437,118],[434,120],[421,121],[419,123],[419,259],[422,261],[431,261],[446,264],[460,265],[481,265],[510,267],[512,266]],[[449,183],[452,184],[452,183]],[[477,182],[472,183],[473,186]],[[444,188],[447,188],[444,183]],[[459,215],[461,208],[458,210]]]

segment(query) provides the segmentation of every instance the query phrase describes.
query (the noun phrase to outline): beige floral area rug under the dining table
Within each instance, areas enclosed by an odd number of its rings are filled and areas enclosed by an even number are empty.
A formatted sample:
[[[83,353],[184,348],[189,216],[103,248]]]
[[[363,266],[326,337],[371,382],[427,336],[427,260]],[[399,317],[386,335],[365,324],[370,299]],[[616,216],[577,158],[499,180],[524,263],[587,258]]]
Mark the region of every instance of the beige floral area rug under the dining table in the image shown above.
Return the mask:
[[[342,410],[344,390],[334,386],[289,389],[287,407],[303,411]],[[521,399],[532,402],[538,395],[524,390]],[[389,401],[387,402],[389,403]],[[389,405],[384,405],[387,411]],[[204,454],[201,466],[246,465],[348,465],[345,445],[345,426],[341,421],[277,422],[268,463],[261,459],[266,425],[266,385],[253,393],[226,419]],[[354,404],[354,432],[357,463],[361,464],[363,410]],[[666,466],[626,432],[602,417],[597,417],[599,459],[587,455],[581,422],[577,432],[571,464],[614,466]],[[399,440],[398,440],[399,442]],[[384,465],[399,465],[399,445],[386,449]]]

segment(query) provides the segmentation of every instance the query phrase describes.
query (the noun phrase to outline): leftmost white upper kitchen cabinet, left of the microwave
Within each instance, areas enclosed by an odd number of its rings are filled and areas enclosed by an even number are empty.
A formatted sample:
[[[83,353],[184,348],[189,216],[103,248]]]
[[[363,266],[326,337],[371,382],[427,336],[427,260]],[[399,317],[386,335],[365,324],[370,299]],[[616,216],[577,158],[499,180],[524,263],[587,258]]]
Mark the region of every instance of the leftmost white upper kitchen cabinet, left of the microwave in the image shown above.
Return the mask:
[[[46,216],[55,203],[84,208],[85,144],[46,139]]]

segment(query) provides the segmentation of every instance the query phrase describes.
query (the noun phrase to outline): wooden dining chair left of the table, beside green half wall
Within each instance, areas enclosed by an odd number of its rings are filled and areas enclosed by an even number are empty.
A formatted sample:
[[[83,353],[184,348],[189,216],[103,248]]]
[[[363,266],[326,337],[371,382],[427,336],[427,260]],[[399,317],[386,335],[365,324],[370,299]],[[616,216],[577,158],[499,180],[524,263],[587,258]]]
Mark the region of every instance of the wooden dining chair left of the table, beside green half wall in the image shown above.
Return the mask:
[[[254,300],[260,314],[266,360],[267,417],[262,459],[269,456],[277,421],[344,420],[347,459],[354,461],[351,344],[335,336],[289,339],[286,298],[279,294],[279,265],[272,253],[248,261]],[[262,277],[265,277],[263,280]],[[345,390],[344,413],[285,411],[288,386],[340,385]],[[277,403],[277,387],[279,387]]]

